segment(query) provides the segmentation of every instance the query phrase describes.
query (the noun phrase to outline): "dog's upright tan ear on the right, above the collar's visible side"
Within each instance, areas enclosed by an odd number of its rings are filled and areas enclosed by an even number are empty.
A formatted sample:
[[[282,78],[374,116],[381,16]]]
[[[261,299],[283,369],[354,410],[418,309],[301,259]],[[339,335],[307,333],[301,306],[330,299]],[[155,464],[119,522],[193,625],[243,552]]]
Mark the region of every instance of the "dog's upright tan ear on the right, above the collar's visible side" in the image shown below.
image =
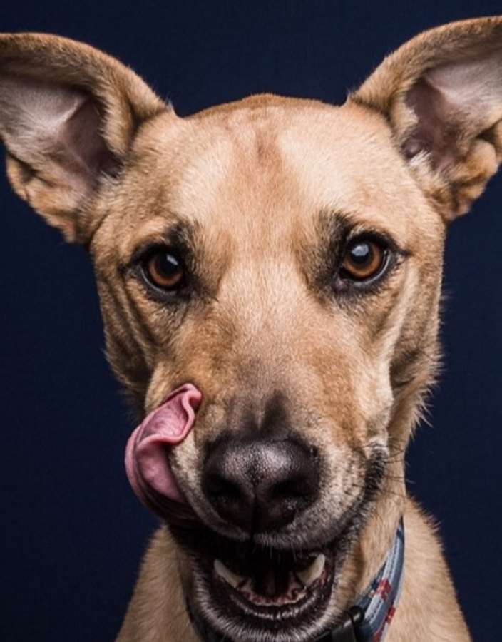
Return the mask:
[[[465,213],[502,157],[502,16],[425,31],[350,100],[388,119],[445,220]]]

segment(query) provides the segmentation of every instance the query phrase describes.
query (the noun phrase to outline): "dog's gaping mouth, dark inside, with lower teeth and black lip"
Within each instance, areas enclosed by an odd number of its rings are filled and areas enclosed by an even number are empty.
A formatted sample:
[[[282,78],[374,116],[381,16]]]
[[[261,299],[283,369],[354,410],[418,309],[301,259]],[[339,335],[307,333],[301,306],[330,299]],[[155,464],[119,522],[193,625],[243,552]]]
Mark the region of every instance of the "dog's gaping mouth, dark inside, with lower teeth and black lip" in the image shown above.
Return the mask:
[[[307,631],[319,621],[334,584],[332,545],[312,551],[280,550],[213,533],[204,539],[205,550],[199,549],[197,555],[192,551],[191,557],[205,596],[205,606],[197,607],[201,614],[213,614],[213,626],[245,623],[246,631],[256,634],[292,627]]]

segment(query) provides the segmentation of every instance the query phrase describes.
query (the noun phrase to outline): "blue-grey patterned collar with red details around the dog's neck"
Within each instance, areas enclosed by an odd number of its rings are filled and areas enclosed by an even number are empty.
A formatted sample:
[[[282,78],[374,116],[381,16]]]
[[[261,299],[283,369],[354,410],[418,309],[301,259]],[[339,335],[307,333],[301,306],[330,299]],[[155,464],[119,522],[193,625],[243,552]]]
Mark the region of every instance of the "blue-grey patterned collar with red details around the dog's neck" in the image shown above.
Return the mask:
[[[342,623],[325,631],[312,642],[382,642],[399,603],[403,565],[404,524],[401,518],[386,560],[372,584],[359,596],[355,605],[344,613]],[[188,613],[201,641],[228,640],[213,631],[190,607],[187,597]]]

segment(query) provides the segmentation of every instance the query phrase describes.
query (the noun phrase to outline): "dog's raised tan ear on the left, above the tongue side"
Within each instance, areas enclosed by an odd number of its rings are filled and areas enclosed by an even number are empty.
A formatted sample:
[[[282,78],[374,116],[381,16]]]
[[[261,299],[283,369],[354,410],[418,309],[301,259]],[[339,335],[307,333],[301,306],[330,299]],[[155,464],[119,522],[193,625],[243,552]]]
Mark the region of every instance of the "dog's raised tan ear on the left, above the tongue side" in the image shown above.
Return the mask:
[[[86,243],[88,202],[120,168],[138,126],[167,109],[101,51],[45,34],[0,35],[0,138],[21,198]]]

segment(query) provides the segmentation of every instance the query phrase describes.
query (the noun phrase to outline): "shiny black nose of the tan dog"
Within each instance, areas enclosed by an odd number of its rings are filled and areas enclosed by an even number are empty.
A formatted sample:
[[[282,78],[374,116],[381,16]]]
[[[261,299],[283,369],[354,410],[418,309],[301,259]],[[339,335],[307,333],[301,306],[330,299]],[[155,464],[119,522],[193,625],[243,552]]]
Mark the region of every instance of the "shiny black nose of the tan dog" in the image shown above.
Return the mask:
[[[203,470],[203,491],[217,513],[253,533],[289,524],[318,490],[317,451],[291,439],[220,439]]]

